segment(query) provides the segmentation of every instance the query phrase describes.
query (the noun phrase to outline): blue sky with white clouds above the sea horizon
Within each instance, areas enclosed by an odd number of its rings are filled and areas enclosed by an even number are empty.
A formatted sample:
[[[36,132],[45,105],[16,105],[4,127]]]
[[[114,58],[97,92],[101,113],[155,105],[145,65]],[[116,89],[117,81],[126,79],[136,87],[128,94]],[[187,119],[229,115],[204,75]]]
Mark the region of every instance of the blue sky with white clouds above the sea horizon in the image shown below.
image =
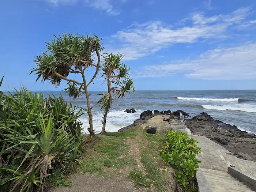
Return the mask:
[[[96,34],[101,54],[125,54],[136,90],[256,89],[255,0],[3,0],[0,26],[0,90],[64,89],[29,75],[63,32]],[[106,86],[97,78],[89,90]]]

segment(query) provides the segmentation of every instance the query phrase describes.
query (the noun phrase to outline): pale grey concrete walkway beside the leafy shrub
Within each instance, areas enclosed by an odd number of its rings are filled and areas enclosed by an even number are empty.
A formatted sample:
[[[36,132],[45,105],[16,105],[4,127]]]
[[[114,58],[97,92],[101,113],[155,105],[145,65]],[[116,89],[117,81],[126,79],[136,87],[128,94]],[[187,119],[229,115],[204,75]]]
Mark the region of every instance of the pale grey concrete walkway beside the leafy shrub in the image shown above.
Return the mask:
[[[181,120],[170,122],[173,131],[188,131],[187,125]],[[256,162],[238,159],[231,155],[224,147],[204,137],[192,135],[197,139],[202,148],[201,154],[197,155],[202,163],[197,171],[196,177],[200,192],[249,192],[251,191],[242,182],[227,173],[227,167],[235,166],[242,172],[256,176]]]

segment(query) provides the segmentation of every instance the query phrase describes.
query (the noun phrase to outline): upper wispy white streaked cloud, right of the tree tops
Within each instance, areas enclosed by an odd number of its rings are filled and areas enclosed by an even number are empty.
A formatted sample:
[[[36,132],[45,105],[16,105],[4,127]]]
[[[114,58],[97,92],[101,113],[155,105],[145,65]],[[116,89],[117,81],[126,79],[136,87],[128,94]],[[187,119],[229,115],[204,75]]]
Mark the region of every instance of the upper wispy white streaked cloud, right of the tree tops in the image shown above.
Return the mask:
[[[112,35],[112,41],[116,43],[115,46],[119,46],[121,52],[126,54],[125,60],[136,60],[172,44],[228,38],[235,33],[229,29],[242,26],[250,9],[244,7],[228,15],[210,17],[206,17],[203,12],[196,12],[189,18],[183,19],[182,22],[189,22],[189,25],[175,28],[161,21],[134,23],[127,29]]]

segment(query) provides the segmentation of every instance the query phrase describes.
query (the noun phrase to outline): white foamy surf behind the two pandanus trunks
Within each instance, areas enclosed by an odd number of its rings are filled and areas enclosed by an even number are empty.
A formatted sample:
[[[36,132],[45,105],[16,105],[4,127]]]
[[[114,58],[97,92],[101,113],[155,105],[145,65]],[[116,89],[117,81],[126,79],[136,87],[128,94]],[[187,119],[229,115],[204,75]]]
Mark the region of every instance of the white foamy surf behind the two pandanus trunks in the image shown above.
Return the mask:
[[[118,129],[132,124],[142,113],[142,110],[136,110],[135,113],[126,113],[124,111],[125,109],[121,111],[110,111],[108,113],[105,129],[106,132],[116,132]],[[95,112],[95,114],[93,114],[93,128],[95,129],[95,133],[101,132],[102,116],[103,112]],[[81,117],[80,121],[83,123],[84,132],[89,133],[87,131],[87,128],[89,127],[88,115],[86,114],[86,117]]]

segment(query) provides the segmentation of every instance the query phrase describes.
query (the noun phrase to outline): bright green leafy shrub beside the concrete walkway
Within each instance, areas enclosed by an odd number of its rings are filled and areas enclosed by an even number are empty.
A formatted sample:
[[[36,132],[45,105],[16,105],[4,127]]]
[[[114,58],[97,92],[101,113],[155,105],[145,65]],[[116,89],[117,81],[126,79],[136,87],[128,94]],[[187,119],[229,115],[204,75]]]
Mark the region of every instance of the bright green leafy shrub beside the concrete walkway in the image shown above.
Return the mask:
[[[187,132],[167,131],[167,139],[161,150],[161,157],[175,169],[176,180],[188,191],[195,180],[199,168],[196,155],[201,148],[196,145],[196,139],[189,138]]]

